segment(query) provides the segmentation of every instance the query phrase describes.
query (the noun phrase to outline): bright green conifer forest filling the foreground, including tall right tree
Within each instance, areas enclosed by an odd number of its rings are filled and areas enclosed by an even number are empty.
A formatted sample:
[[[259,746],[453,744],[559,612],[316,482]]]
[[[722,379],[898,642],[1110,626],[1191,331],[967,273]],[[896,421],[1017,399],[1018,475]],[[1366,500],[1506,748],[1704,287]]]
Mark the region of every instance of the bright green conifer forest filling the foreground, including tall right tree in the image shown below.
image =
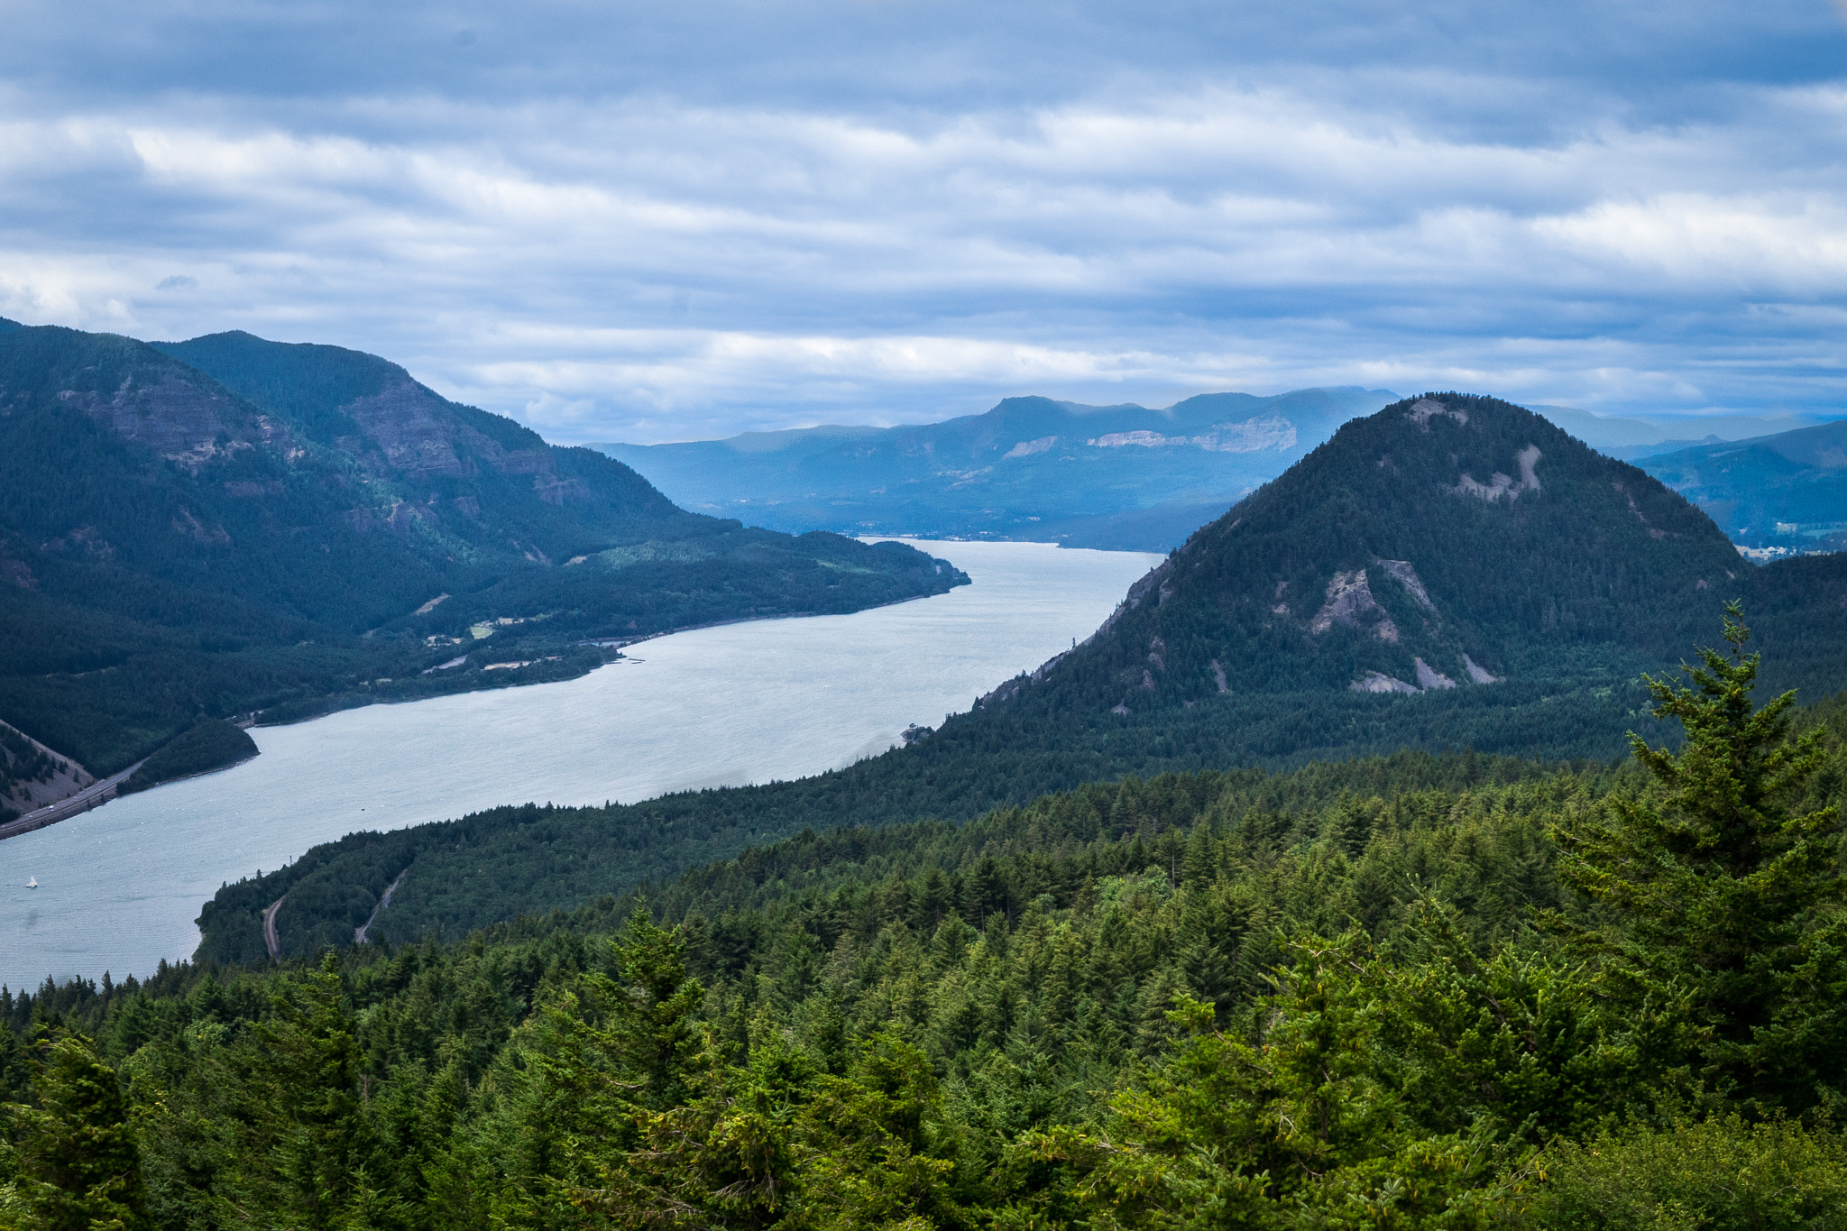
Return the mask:
[[[0,1225],[1836,1227],[1847,701],[803,832],[0,993]]]

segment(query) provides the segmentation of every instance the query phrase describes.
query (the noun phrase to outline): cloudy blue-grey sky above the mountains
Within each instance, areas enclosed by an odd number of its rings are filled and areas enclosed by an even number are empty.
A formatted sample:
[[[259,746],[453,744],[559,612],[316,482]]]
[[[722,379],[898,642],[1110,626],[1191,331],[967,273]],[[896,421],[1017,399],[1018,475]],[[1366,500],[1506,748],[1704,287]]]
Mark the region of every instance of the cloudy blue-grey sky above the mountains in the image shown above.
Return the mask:
[[[549,439],[997,399],[1841,413],[1827,0],[0,0],[0,316]]]

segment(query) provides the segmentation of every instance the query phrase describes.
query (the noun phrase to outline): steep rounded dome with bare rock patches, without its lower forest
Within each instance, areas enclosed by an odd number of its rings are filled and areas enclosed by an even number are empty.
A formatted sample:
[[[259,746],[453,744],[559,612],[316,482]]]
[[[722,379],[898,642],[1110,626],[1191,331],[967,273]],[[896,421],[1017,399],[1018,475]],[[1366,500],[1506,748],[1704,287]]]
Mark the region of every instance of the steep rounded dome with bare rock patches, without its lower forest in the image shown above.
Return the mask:
[[[1548,419],[1426,395],[1202,528],[1040,687],[1132,711],[1659,663],[1718,627],[1749,572],[1699,509]]]

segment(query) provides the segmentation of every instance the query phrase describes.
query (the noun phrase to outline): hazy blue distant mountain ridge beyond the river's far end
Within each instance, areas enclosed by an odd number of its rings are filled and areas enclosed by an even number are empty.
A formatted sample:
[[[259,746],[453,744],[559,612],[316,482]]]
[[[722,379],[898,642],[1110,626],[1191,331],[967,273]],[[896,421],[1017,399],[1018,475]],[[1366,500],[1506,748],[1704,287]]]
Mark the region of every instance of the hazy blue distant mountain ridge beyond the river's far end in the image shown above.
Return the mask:
[[[1391,397],[1204,393],[1164,410],[1010,397],[924,426],[595,448],[687,508],[778,530],[1169,550]]]

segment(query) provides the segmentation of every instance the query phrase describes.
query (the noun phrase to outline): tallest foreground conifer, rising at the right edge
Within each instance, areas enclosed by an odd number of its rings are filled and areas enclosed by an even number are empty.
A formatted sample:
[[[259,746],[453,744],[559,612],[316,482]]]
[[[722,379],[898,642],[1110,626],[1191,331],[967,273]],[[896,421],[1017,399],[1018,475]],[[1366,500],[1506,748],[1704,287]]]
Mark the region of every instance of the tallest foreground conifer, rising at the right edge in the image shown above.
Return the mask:
[[[1649,790],[1559,825],[1559,877],[1601,912],[1550,919],[1622,1004],[1686,995],[1714,1093],[1801,1109],[1841,1087],[1847,1059],[1840,814],[1801,807],[1821,733],[1790,738],[1793,692],[1753,705],[1749,639],[1731,604],[1731,650],[1701,650],[1701,666],[1683,668],[1692,687],[1646,677],[1655,716],[1681,720],[1686,744],[1673,753],[1631,735]]]

